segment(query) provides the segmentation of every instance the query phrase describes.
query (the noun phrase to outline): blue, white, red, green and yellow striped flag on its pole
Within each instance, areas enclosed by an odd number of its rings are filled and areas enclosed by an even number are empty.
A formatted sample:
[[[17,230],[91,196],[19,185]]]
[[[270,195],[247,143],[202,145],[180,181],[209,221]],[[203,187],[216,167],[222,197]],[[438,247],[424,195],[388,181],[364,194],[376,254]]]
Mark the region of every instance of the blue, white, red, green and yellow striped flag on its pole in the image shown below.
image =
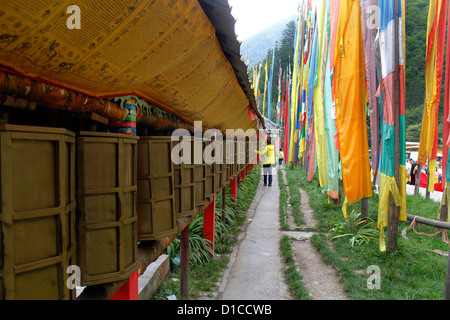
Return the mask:
[[[386,251],[384,227],[389,225],[389,247],[395,250],[398,220],[406,221],[405,4],[403,0],[392,3],[380,1],[379,8],[381,87],[384,99],[377,227],[380,229],[380,251]]]

